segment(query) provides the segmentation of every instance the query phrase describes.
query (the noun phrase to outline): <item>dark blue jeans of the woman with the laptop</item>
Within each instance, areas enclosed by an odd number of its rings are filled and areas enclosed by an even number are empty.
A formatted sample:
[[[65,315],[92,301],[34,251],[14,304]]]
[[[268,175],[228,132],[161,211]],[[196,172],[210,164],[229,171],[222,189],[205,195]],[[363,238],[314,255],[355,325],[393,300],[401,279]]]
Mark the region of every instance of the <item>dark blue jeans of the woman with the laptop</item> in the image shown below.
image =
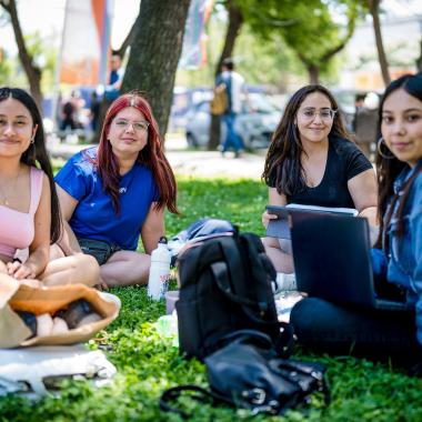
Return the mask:
[[[421,359],[412,311],[358,309],[308,298],[298,302],[290,321],[300,343],[332,354],[353,354],[413,364]]]

